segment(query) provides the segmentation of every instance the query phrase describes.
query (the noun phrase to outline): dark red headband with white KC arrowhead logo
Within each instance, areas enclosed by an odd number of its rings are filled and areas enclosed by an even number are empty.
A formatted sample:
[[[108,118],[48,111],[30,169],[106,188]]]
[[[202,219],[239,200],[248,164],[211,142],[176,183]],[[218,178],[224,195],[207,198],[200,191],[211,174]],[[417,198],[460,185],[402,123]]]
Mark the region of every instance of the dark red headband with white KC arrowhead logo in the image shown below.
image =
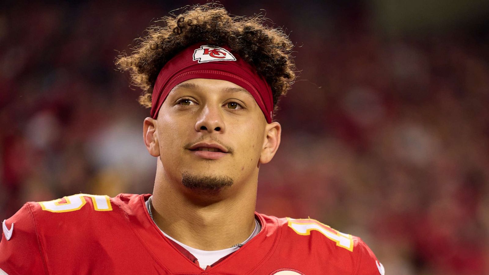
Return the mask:
[[[183,81],[210,78],[230,81],[246,89],[262,109],[267,122],[272,121],[273,97],[270,85],[256,69],[228,46],[198,43],[180,51],[160,70],[153,89],[151,117],[158,116],[168,93]]]

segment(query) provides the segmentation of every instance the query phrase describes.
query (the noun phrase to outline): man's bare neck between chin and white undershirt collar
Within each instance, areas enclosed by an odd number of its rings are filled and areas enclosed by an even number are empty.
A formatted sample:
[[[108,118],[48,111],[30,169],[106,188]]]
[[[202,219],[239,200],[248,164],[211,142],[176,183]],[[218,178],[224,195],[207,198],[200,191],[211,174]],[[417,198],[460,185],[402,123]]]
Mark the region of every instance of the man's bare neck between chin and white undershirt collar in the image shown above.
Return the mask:
[[[258,172],[214,194],[188,190],[171,179],[158,158],[152,213],[156,225],[179,242],[200,250],[241,243],[255,229]]]

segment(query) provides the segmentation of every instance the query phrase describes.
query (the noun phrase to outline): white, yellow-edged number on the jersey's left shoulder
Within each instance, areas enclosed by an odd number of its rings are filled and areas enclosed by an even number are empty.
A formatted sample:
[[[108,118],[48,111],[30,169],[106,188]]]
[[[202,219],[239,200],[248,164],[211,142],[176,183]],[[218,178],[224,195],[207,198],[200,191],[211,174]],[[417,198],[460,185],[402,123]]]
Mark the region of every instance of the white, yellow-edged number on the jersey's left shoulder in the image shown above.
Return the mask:
[[[39,202],[43,210],[55,213],[70,212],[80,210],[86,203],[87,197],[92,200],[93,208],[96,211],[111,211],[111,201],[109,196],[101,195],[89,195],[89,194],[75,194],[67,197],[63,197],[66,202],[62,202],[63,199],[52,200],[48,202]]]

